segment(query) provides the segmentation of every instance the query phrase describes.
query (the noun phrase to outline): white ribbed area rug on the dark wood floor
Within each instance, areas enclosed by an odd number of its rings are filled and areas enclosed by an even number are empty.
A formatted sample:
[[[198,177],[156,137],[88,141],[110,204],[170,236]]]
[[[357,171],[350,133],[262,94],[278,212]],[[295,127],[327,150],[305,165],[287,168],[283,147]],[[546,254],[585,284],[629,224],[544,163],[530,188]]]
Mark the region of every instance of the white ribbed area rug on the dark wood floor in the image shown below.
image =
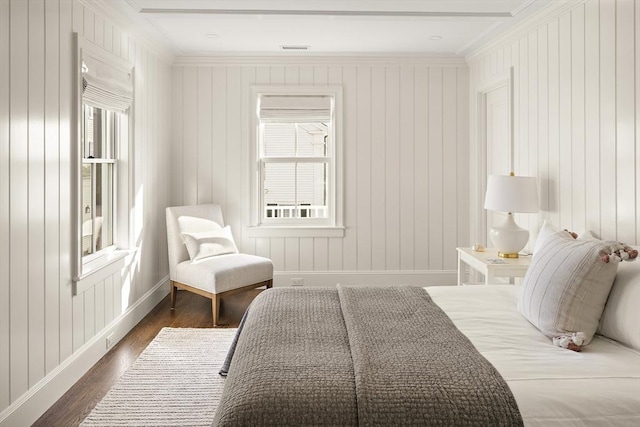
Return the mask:
[[[80,425],[210,426],[235,332],[163,328]]]

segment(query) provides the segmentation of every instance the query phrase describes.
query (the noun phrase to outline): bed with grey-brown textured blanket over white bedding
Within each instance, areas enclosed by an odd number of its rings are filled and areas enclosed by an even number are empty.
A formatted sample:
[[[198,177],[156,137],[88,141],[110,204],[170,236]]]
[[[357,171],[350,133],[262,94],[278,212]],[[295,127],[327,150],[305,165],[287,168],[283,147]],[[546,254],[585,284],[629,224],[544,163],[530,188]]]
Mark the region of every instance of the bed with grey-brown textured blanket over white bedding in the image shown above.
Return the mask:
[[[365,320],[371,326],[369,332],[366,328],[355,331],[377,339],[371,331],[378,330],[380,340],[367,342],[359,350],[350,349],[349,343],[346,350],[343,346],[353,329],[347,338],[336,338],[323,326],[343,322],[349,329],[348,316],[340,315],[345,303],[336,300],[339,291],[270,290],[256,298],[243,322],[214,425],[640,425],[640,262],[624,264],[628,265],[620,266],[600,321],[599,332],[610,337],[596,335],[581,352],[554,346],[523,318],[516,308],[520,290],[512,285],[409,291],[409,300],[418,299],[420,304],[423,297],[416,292],[427,295],[463,334],[460,340],[441,339],[441,332],[436,331],[433,339],[440,340],[436,347],[443,349],[444,362],[433,360],[436,356],[432,353],[437,352],[427,351],[426,356],[424,352],[412,353],[415,348],[424,348],[424,343],[422,337],[411,335],[415,331],[410,324],[417,324],[417,330],[431,328],[424,328],[413,314],[398,315],[413,313],[416,306],[411,301],[387,301],[394,299],[394,290],[380,294],[380,290],[371,289],[372,300],[386,300],[371,309],[372,314],[380,310],[377,319],[374,315]],[[287,295],[302,299],[296,304],[275,302],[281,297],[286,300]],[[366,299],[365,294],[356,297]],[[254,310],[262,299],[268,300],[269,307]],[[324,299],[334,302],[325,305]],[[292,311],[292,306],[297,309]],[[368,309],[358,306],[351,310],[360,316]],[[430,318],[427,322],[438,324],[440,320]],[[270,327],[272,331],[264,333]],[[394,341],[395,332],[405,329],[408,335]],[[441,381],[464,371],[461,364],[476,363],[465,359],[471,351],[465,340],[490,367],[480,364],[471,368],[471,372],[486,372],[470,388],[467,383],[474,383],[474,379],[468,373],[440,387]],[[404,345],[412,341],[414,349]],[[448,346],[450,342],[453,344]],[[416,357],[420,359],[417,362]],[[345,362],[349,358],[353,358],[353,365]],[[369,371],[356,366],[363,358]],[[461,364],[449,363],[458,359]],[[405,364],[409,368],[405,369]],[[495,383],[492,369],[498,373]],[[429,383],[427,378],[432,376],[438,379]],[[507,385],[511,397],[502,394],[499,380]],[[488,388],[483,388],[485,382]],[[435,391],[436,397],[423,394],[425,383],[427,393]],[[464,389],[462,394],[457,394],[458,388]],[[468,394],[475,396],[467,401]],[[511,398],[519,413],[517,419],[509,406]],[[436,402],[440,400],[443,402]],[[443,404],[444,409],[434,402]],[[425,407],[426,412],[421,412]]]

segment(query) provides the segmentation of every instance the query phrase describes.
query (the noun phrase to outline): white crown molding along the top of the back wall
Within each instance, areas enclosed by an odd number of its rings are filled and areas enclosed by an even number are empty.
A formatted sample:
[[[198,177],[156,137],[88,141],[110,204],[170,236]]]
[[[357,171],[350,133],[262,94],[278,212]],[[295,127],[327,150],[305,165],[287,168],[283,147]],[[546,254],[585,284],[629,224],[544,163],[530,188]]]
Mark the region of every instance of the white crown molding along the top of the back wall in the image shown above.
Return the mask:
[[[177,66],[301,66],[301,65],[422,65],[432,67],[467,67],[462,56],[428,56],[428,55],[189,55],[176,58]]]

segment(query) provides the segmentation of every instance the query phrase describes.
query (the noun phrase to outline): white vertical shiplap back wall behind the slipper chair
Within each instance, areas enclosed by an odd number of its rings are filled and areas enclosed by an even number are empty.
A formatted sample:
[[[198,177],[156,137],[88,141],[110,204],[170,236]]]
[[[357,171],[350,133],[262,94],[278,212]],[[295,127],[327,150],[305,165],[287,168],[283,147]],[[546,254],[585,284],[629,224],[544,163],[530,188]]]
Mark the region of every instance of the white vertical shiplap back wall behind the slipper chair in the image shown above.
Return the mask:
[[[455,270],[469,243],[466,64],[185,62],[173,70],[172,202],[221,203],[241,250],[277,272]],[[252,84],[342,85],[344,238],[246,236]]]

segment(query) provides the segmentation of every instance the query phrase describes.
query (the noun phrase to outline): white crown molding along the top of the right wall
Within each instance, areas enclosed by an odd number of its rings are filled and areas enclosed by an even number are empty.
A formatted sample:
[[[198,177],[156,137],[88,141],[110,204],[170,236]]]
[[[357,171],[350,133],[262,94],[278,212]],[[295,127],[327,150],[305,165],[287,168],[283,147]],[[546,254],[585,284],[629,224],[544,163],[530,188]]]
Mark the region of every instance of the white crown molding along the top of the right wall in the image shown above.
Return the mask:
[[[519,24],[509,28],[501,34],[497,34],[494,38],[483,43],[482,46],[469,52],[465,56],[467,63],[474,61],[478,57],[495,50],[496,48],[508,43],[513,39],[530,33],[536,28],[548,23],[552,19],[557,18],[563,13],[581,4],[584,4],[587,1],[589,0],[556,0],[549,2],[547,6],[535,12],[533,15],[526,18]]]

